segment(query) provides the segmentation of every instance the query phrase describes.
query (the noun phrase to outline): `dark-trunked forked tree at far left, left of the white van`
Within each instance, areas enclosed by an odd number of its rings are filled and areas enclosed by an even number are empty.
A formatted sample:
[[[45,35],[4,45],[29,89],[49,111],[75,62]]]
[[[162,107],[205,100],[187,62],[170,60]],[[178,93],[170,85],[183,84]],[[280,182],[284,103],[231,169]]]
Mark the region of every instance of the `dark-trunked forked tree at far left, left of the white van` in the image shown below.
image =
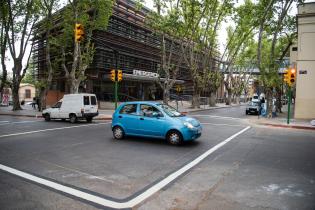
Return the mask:
[[[28,68],[31,51],[27,55],[26,66],[23,68],[23,59],[26,55],[26,48],[31,43],[30,38],[34,29],[34,24],[38,18],[38,0],[5,1],[2,6],[7,11],[6,17],[2,20],[5,27],[5,36],[10,56],[13,60],[13,110],[20,110],[19,87],[26,70]]]

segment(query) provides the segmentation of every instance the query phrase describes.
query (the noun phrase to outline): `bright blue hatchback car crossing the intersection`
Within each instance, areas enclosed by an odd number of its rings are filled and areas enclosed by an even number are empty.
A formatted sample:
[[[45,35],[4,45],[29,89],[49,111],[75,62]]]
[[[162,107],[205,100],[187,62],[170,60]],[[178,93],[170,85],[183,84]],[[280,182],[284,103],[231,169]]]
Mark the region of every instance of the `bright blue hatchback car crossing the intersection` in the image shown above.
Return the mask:
[[[179,113],[173,107],[148,101],[126,102],[113,114],[115,139],[124,136],[166,138],[173,145],[201,136],[202,126],[194,118]]]

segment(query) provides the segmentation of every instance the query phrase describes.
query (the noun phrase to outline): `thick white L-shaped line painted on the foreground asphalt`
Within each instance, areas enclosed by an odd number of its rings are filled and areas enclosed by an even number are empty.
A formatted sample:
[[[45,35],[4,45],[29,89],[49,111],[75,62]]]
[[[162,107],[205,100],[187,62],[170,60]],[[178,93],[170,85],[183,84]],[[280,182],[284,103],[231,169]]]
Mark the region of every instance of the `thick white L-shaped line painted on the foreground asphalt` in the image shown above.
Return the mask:
[[[9,172],[11,174],[14,174],[16,176],[22,177],[24,179],[31,180],[33,182],[42,184],[46,187],[53,188],[53,189],[61,191],[63,193],[67,193],[69,195],[72,195],[72,196],[75,196],[75,197],[78,197],[78,198],[84,199],[86,201],[90,201],[90,202],[93,202],[95,204],[99,204],[99,205],[102,205],[105,207],[116,208],[116,209],[132,208],[132,207],[138,205],[139,203],[143,202],[144,200],[146,200],[147,198],[149,198],[150,196],[152,196],[156,192],[160,191],[163,187],[165,187],[166,185],[168,185],[169,183],[174,181],[176,178],[181,176],[183,173],[190,170],[192,167],[199,164],[202,160],[207,158],[210,154],[212,154],[213,152],[215,152],[216,150],[218,150],[219,148],[224,146],[226,143],[230,142],[236,136],[244,133],[249,128],[250,128],[250,126],[247,126],[243,130],[235,133],[234,135],[230,136],[229,138],[225,139],[224,141],[222,141],[219,144],[215,145],[214,147],[210,148],[208,151],[206,151],[205,153],[203,153],[202,155],[200,155],[199,157],[194,159],[192,162],[183,166],[179,170],[170,174],[165,179],[161,180],[160,182],[153,185],[152,187],[150,187],[149,189],[147,189],[146,191],[144,191],[143,193],[141,193],[137,197],[135,197],[135,198],[133,198],[127,202],[111,201],[111,200],[108,200],[108,199],[105,199],[105,198],[102,198],[99,196],[91,195],[89,193],[82,192],[80,190],[76,190],[76,189],[73,189],[73,188],[70,188],[70,187],[67,187],[67,186],[43,179],[43,178],[39,178],[37,176],[16,170],[14,168],[11,168],[11,167],[8,167],[8,166],[2,165],[2,164],[0,164],[0,169],[3,171]]]

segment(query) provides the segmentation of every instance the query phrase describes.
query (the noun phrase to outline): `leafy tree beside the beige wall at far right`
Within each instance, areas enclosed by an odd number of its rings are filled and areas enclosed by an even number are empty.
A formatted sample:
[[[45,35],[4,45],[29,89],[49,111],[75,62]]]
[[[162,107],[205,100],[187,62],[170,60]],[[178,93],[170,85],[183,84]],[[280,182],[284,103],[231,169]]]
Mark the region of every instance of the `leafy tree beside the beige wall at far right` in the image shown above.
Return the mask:
[[[293,2],[302,2],[294,0],[281,0],[281,1],[262,1],[261,4],[268,5],[267,8],[263,8],[263,18],[260,22],[259,28],[259,38],[258,38],[258,48],[257,48],[257,62],[258,68],[261,74],[260,80],[263,84],[266,98],[267,98],[267,113],[268,117],[272,116],[272,97],[273,90],[280,89],[278,86],[281,84],[281,78],[278,74],[278,69],[280,67],[279,58],[282,60],[284,55],[289,49],[289,44],[292,39],[288,39],[287,47],[283,48],[278,37],[282,36],[283,32],[287,33],[287,37],[293,38],[292,29],[294,30],[295,25],[292,18],[288,15]],[[272,8],[272,9],[271,9]],[[290,23],[290,24],[287,24]],[[288,27],[285,27],[288,26]],[[288,35],[290,34],[290,35]],[[265,44],[265,46],[264,46]],[[279,49],[284,49],[282,52]],[[278,98],[279,99],[279,98]]]

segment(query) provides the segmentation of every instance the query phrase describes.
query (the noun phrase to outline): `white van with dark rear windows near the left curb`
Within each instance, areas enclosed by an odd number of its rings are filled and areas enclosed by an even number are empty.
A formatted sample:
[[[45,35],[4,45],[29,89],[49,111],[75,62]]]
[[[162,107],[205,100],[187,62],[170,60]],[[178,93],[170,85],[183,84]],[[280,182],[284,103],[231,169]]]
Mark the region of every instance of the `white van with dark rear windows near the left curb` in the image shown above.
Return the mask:
[[[92,122],[93,117],[98,115],[97,99],[95,94],[80,93],[64,95],[51,108],[42,112],[45,121],[50,119],[70,119],[71,123],[78,119],[86,119]]]

